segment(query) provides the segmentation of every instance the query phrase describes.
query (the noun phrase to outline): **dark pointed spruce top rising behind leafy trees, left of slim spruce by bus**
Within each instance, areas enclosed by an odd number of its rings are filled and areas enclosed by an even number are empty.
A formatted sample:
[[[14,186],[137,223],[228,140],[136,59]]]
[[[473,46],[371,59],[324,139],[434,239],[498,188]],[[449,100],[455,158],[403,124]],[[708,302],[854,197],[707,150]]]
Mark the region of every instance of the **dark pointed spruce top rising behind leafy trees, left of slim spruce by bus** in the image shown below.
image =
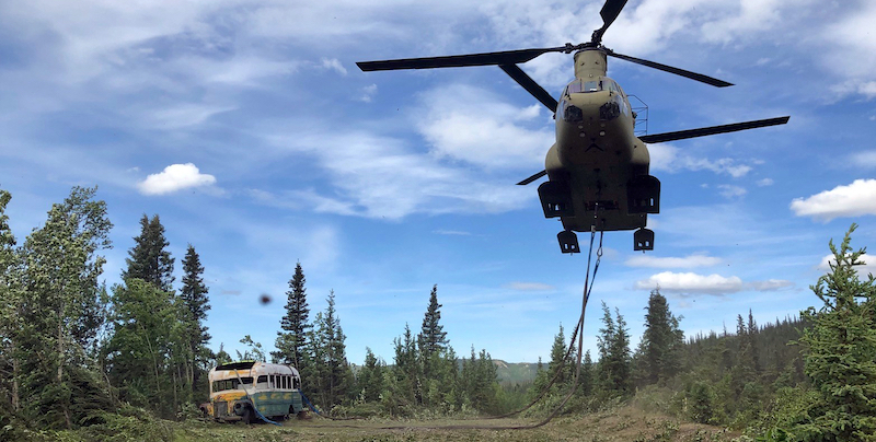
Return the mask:
[[[166,292],[173,291],[173,258],[165,249],[170,245],[164,239],[164,226],[158,214],[150,220],[143,213],[140,219],[140,235],[135,236],[135,245],[128,252],[130,257],[125,261],[127,270],[122,272],[122,278],[139,278]]]

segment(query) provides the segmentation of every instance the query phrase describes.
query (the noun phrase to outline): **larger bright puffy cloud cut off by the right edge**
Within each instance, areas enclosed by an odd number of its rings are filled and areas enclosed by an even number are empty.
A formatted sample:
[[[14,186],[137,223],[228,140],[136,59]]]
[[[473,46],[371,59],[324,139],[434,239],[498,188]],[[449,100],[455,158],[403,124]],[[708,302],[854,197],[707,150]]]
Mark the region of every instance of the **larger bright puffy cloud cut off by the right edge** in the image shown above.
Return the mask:
[[[876,214],[876,179],[855,179],[808,198],[795,198],[791,210],[797,217],[830,221],[841,217]]]

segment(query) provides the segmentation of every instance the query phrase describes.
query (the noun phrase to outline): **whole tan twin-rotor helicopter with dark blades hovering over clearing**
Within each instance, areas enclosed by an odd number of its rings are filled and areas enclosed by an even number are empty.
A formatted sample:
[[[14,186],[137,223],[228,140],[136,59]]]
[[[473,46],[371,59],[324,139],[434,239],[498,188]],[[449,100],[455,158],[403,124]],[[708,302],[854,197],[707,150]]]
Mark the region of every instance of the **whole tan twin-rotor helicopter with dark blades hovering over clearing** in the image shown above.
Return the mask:
[[[526,186],[548,175],[548,181],[539,186],[539,199],[544,217],[560,218],[563,224],[563,231],[556,235],[561,252],[580,252],[575,232],[624,230],[635,230],[634,251],[653,251],[654,232],[646,229],[646,224],[649,213],[660,212],[660,181],[649,174],[648,143],[784,125],[791,117],[637,137],[636,114],[627,95],[607,75],[609,57],[716,88],[733,83],[619,54],[603,46],[602,35],[626,1],[607,0],[599,12],[602,26],[593,31],[590,42],[578,45],[566,43],[558,47],[360,61],[356,65],[365,72],[498,66],[554,115],[556,142],[548,150],[544,170],[517,184]],[[558,101],[518,66],[548,53],[574,53],[575,79],[565,86]]]

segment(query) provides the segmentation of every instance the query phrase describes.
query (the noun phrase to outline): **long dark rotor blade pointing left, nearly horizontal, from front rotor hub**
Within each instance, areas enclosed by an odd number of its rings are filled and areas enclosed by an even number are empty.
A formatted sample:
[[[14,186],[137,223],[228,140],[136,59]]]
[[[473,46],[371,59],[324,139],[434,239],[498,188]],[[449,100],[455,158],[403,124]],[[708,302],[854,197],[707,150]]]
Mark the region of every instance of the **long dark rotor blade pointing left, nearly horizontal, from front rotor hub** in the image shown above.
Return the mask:
[[[568,45],[572,46],[572,45]],[[566,46],[505,50],[500,53],[468,54],[446,57],[402,58],[396,60],[358,61],[356,66],[365,72],[396,69],[461,68],[464,66],[516,65],[527,62],[542,54],[573,50]]]

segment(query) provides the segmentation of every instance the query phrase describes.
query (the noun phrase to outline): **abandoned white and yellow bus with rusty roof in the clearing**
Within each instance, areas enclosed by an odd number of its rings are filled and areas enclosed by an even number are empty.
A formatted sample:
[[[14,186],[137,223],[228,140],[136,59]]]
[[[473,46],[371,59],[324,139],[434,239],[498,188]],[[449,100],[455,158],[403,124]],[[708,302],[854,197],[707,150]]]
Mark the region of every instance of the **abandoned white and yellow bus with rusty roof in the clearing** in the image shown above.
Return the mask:
[[[250,423],[257,414],[268,419],[297,415],[301,403],[301,377],[290,365],[238,361],[210,370],[210,402],[200,408],[218,421]]]

